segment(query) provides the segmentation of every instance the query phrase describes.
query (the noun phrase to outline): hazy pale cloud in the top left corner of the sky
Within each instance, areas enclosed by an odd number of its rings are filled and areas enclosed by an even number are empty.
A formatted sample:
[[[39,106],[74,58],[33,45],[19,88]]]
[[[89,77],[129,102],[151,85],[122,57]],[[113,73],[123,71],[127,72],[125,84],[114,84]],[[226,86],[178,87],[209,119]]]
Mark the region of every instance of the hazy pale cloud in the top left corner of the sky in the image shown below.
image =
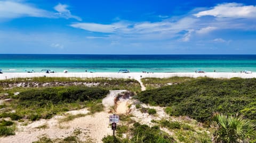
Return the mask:
[[[12,19],[22,16],[51,18],[51,12],[38,9],[29,4],[22,4],[13,1],[0,1],[0,18]]]

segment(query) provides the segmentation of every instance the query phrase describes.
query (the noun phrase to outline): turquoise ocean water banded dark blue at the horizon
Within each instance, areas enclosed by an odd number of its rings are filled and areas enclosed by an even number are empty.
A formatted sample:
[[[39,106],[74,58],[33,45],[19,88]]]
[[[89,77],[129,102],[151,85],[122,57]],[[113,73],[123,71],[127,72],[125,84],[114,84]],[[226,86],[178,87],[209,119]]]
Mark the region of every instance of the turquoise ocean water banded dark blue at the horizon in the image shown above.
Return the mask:
[[[40,55],[0,54],[3,72],[256,72],[256,55]]]

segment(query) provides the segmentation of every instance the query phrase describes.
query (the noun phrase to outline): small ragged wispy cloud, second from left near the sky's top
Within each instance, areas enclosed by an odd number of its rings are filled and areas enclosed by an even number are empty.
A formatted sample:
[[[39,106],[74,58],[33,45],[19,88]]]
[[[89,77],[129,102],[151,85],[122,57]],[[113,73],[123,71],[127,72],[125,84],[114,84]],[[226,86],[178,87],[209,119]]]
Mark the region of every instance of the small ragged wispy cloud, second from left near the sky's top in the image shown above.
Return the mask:
[[[58,15],[62,18],[66,18],[66,19],[73,18],[78,21],[82,21],[82,19],[79,18],[78,16],[71,14],[71,12],[68,10],[68,5],[66,4],[58,4],[54,7],[54,10],[58,11],[58,13],[55,13],[55,15]]]

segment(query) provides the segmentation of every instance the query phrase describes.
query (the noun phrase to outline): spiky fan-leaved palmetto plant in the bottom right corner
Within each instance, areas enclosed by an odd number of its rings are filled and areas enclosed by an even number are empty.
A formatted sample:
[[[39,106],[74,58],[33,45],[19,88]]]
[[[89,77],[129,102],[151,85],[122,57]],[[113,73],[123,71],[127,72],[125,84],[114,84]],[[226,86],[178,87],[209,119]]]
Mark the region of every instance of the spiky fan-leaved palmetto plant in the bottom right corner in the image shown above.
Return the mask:
[[[249,142],[256,138],[255,126],[242,115],[214,113],[212,128],[212,141],[216,143]]]

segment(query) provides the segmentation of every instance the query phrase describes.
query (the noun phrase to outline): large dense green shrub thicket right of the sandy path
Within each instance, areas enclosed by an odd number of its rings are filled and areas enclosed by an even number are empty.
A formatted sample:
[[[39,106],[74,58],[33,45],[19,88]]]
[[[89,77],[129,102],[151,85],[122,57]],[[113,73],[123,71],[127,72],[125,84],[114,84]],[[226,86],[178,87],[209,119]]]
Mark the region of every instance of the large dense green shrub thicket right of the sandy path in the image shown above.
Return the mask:
[[[198,78],[142,91],[138,99],[143,103],[165,106],[166,113],[187,115],[207,124],[213,112],[226,115],[240,113],[256,120],[256,79]]]

